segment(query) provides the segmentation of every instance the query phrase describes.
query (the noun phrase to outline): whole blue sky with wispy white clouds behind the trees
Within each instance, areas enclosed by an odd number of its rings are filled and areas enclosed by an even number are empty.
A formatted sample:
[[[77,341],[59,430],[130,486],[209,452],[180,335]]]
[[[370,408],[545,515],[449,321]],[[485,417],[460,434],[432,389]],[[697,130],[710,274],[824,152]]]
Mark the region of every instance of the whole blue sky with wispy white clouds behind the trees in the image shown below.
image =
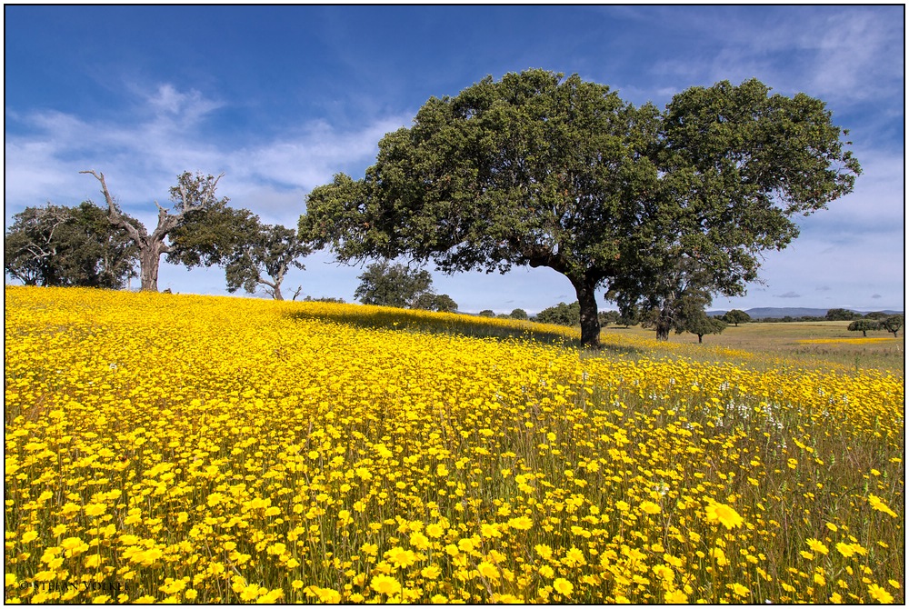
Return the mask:
[[[904,308],[904,7],[11,6],[5,13],[5,222],[26,205],[103,203],[155,225],[185,170],[225,172],[219,195],[296,226],[305,195],[362,177],[382,135],[430,96],[541,67],[660,107],[693,85],[756,77],[823,99],[864,175],[765,256],[764,284],[713,309]],[[285,294],[353,301],[360,267],[305,259]],[[562,275],[434,273],[462,311],[534,313]],[[162,264],[159,287],[226,294],[219,268]],[[610,308],[602,294],[601,307]]]

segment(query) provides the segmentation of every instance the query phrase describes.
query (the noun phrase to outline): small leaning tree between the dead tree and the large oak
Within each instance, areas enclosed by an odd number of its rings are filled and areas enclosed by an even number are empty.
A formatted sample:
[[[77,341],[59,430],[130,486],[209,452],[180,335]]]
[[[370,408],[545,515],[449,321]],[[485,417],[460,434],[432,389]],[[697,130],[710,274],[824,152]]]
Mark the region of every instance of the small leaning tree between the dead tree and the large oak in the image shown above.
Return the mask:
[[[284,300],[281,283],[287,271],[291,267],[305,268],[299,259],[309,255],[312,249],[300,240],[294,229],[260,225],[258,218],[250,222],[247,231],[227,257],[227,291],[233,294],[243,287],[253,294],[259,286],[264,286],[266,294]]]

